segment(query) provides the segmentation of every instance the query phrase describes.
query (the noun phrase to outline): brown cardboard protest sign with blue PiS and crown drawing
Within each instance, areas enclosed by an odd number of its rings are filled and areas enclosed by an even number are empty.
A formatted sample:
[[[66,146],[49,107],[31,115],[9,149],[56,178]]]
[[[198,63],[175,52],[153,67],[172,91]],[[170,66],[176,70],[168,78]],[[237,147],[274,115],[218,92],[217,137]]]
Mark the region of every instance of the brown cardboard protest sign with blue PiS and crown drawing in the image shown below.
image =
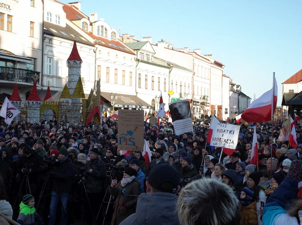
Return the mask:
[[[118,125],[118,150],[143,151],[144,111],[119,109]]]

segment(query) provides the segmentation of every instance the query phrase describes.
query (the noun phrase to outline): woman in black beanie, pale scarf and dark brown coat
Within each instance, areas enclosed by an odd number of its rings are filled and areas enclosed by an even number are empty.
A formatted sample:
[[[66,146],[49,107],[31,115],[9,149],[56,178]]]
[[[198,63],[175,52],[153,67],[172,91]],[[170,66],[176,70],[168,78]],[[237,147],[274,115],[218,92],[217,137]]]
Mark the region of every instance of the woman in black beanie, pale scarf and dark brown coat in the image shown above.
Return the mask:
[[[117,183],[117,180],[114,179],[110,184],[109,192],[115,198],[111,225],[120,224],[128,216],[135,213],[138,195],[141,193],[140,183],[135,179],[136,175],[135,169],[127,167],[124,170],[122,180]]]

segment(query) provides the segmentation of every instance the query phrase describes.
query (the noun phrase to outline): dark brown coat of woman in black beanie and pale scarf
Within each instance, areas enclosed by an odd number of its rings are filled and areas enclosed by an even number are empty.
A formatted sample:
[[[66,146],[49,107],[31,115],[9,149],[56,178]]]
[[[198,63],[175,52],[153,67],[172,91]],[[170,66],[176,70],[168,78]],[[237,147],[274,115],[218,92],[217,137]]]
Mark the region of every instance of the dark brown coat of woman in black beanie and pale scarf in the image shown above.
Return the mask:
[[[121,195],[120,189],[126,189],[126,195]],[[134,179],[131,183],[122,187],[121,182],[119,182],[115,187],[109,186],[109,193],[115,198],[111,225],[117,225],[135,213],[138,197],[127,195],[140,195],[140,184]],[[124,207],[125,204],[127,207]]]

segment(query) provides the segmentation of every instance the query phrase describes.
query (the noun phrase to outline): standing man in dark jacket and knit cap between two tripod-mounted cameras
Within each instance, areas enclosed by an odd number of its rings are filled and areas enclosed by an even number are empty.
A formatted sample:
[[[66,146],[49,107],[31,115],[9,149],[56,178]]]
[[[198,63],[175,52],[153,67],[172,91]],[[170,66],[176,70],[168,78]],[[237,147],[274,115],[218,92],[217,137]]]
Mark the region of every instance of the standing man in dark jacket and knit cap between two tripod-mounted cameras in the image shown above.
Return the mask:
[[[88,201],[90,201],[92,211],[94,215],[96,215],[102,202],[104,180],[106,178],[106,167],[105,163],[98,157],[98,148],[92,148],[89,153],[90,160],[87,161],[85,165],[87,169],[85,186],[89,198]],[[88,202],[86,203],[87,205],[85,209],[87,223],[91,224],[93,218]],[[99,217],[99,219],[101,219],[101,217]]]

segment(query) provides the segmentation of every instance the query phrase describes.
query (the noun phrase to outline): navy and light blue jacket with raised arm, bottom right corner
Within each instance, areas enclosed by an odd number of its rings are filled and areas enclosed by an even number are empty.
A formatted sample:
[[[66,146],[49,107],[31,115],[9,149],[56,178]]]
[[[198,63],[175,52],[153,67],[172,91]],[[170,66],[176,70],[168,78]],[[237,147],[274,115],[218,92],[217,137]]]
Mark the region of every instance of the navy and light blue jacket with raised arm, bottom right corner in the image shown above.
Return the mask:
[[[286,204],[297,197],[297,191],[298,183],[293,178],[286,177],[263,207],[263,225],[299,225],[297,218],[289,216],[285,210]],[[302,221],[302,212],[299,210],[298,213]]]

